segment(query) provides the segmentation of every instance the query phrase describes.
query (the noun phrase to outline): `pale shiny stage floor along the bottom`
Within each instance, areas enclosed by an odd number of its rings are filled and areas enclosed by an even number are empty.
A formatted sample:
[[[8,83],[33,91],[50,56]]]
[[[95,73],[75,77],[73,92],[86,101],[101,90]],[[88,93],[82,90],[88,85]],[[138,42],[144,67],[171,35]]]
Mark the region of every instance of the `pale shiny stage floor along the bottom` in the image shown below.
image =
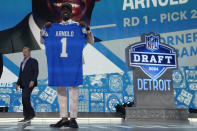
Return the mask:
[[[50,128],[49,124],[58,118],[35,118],[31,125],[22,128],[17,125],[19,118],[0,118],[0,131],[196,131],[197,119],[190,118],[189,123],[177,122],[127,122],[121,118],[79,118],[79,128]]]

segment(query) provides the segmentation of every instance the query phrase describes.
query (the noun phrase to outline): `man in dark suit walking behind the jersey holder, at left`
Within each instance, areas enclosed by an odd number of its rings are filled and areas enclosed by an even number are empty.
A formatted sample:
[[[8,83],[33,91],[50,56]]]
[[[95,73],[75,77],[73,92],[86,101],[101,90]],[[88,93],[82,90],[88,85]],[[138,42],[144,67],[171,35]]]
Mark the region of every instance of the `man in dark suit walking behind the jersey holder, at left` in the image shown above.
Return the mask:
[[[16,90],[18,86],[22,89],[22,104],[24,119],[19,122],[27,122],[35,117],[34,109],[30,102],[30,96],[33,88],[37,86],[38,77],[38,61],[31,58],[30,48],[23,48],[24,60],[20,65],[19,78],[16,83]]]

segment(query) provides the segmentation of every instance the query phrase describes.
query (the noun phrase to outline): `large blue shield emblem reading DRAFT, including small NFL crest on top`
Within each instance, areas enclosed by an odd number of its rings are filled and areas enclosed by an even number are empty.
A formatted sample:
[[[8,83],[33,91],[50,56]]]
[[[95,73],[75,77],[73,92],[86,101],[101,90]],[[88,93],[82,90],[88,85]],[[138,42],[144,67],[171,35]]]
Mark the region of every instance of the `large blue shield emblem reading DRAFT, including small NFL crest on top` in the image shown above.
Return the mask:
[[[175,49],[167,44],[161,44],[159,35],[142,34],[141,40],[126,48],[128,67],[141,68],[151,79],[159,78],[167,69],[177,68]]]

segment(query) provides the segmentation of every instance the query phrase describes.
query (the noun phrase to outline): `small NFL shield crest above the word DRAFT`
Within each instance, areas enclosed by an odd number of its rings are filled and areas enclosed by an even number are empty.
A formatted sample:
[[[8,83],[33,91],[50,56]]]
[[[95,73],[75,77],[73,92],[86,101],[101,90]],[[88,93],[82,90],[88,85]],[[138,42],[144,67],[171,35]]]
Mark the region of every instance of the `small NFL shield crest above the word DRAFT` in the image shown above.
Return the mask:
[[[159,49],[159,36],[146,35],[145,36],[146,49],[155,51]]]

